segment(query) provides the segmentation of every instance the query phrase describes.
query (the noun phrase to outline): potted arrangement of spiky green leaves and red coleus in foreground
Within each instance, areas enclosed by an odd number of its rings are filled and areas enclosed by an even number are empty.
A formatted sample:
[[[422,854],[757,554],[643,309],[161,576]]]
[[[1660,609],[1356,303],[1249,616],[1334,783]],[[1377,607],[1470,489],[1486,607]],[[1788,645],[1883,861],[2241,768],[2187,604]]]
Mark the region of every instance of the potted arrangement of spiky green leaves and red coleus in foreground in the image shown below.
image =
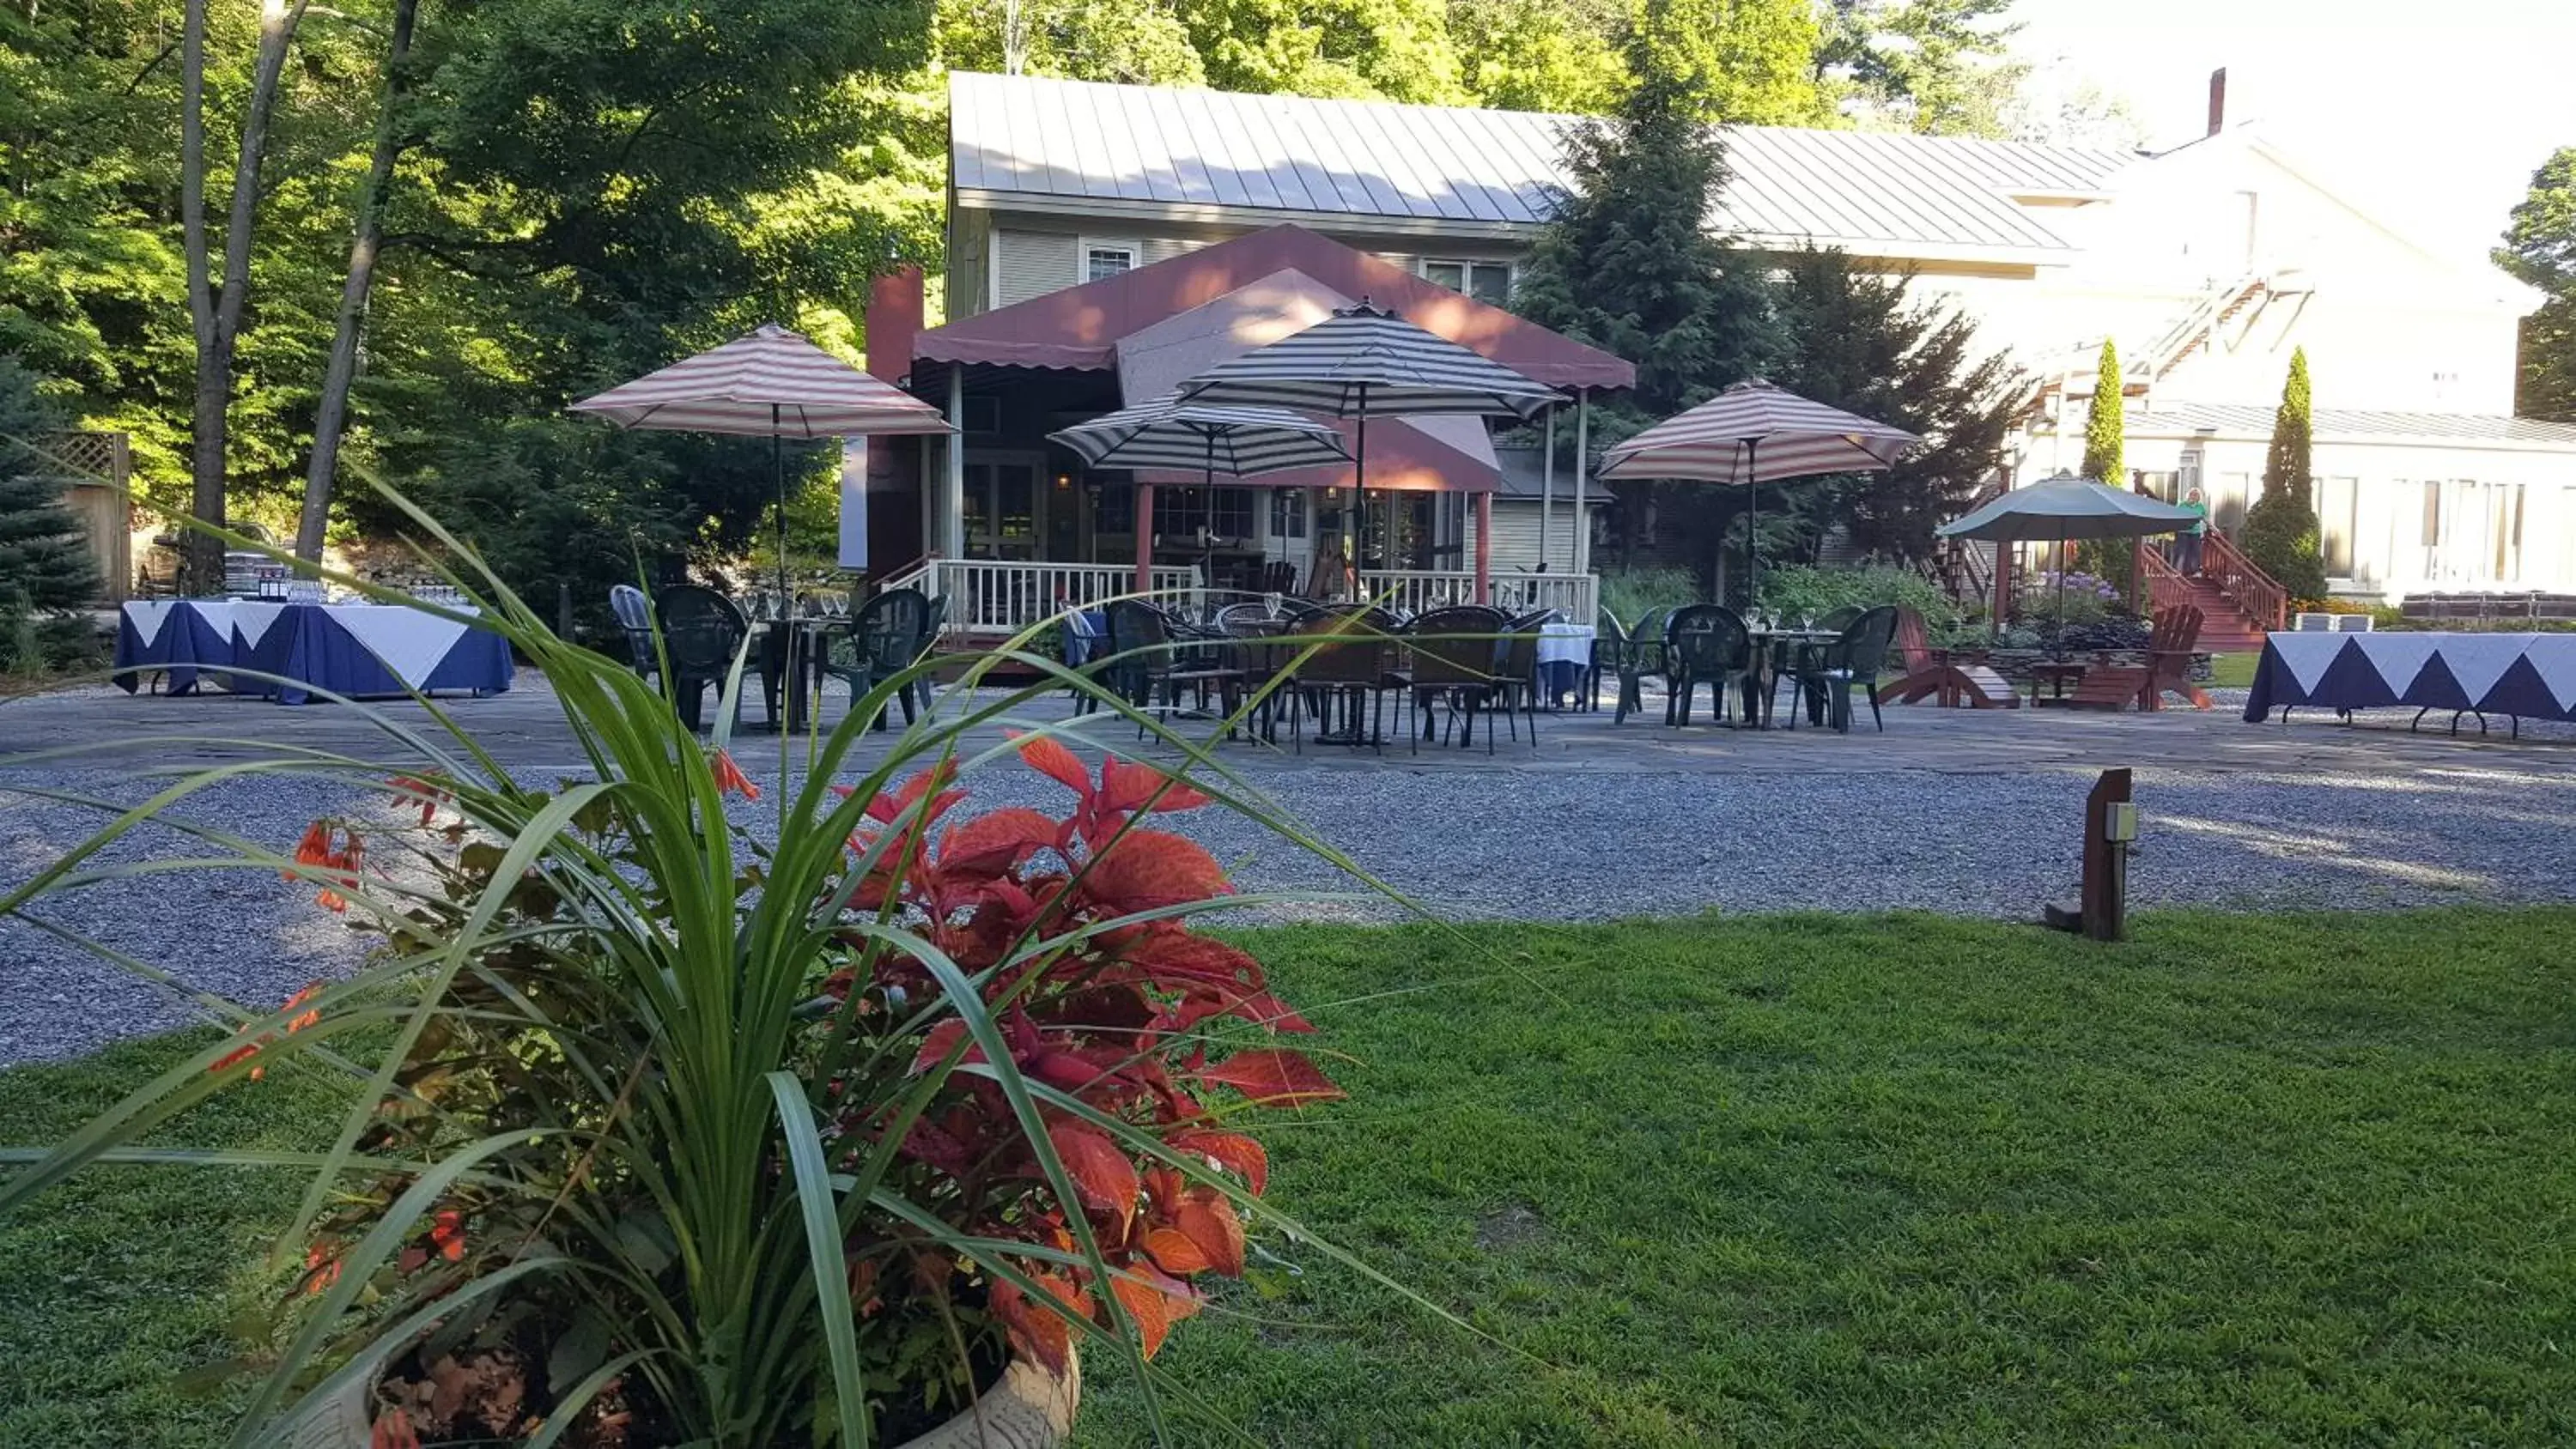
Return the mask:
[[[376,1446],[938,1449],[997,1426],[1036,1446],[1072,1416],[1077,1346],[1151,1374],[1257,1215],[1285,1223],[1257,1207],[1244,1120],[1337,1096],[1283,1045],[1311,1027],[1260,963],[1193,929],[1229,883],[1159,816],[1208,795],[1043,726],[994,744],[1041,692],[1092,690],[1010,651],[989,664],[1041,685],[961,692],[866,770],[853,746],[912,672],[796,741],[799,772],[781,741],[760,808],[726,726],[701,744],[489,577],[477,623],[546,672],[587,777],[515,780],[433,710],[446,739],[386,723],[399,770],[260,764],[386,793],[291,854],[183,818],[219,772],[162,790],[149,818],[314,885],[381,950],[245,1014],[0,1184],[0,1210],[149,1156],[144,1132],[216,1091],[345,1076],[237,1444],[301,1418]],[[1064,808],[969,818],[984,764],[1041,772]],[[88,862],[131,824],[0,911],[116,875]]]

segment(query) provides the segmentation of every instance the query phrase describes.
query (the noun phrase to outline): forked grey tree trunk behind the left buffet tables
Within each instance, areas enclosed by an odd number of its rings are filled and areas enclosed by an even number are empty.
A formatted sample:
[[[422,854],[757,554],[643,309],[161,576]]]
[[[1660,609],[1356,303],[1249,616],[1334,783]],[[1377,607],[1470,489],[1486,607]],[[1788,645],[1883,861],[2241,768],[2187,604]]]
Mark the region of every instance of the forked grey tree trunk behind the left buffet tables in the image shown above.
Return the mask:
[[[224,528],[224,445],[232,407],[232,353],[242,335],[242,309],[250,301],[250,232],[260,208],[260,152],[268,144],[268,116],[286,75],[286,46],[304,21],[304,3],[265,0],[260,8],[260,57],[242,111],[242,149],[232,167],[232,214],[224,221],[224,286],[209,299],[206,270],[206,3],[188,0],[180,39],[180,226],[188,247],[188,317],[196,324],[196,453],[188,512]],[[209,306],[211,304],[211,306]],[[188,592],[224,587],[224,540],[191,535]]]

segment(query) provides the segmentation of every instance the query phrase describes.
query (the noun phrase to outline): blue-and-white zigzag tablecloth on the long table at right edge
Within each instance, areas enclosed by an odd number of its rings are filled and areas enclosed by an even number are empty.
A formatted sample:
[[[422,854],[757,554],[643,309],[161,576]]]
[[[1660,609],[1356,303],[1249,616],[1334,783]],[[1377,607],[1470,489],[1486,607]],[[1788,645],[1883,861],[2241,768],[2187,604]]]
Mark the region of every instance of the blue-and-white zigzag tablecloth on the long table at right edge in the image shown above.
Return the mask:
[[[2275,633],[2246,721],[2295,705],[2576,721],[2576,633]]]

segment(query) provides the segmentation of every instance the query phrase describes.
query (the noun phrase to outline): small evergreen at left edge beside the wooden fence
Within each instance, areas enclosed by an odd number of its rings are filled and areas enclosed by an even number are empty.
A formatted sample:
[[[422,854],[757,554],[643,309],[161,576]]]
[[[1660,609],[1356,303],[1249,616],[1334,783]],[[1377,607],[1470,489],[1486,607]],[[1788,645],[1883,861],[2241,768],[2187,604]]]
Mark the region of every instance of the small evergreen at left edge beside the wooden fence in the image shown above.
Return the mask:
[[[0,667],[59,664],[98,597],[90,543],[62,504],[70,479],[41,453],[54,425],[33,373],[0,358]]]

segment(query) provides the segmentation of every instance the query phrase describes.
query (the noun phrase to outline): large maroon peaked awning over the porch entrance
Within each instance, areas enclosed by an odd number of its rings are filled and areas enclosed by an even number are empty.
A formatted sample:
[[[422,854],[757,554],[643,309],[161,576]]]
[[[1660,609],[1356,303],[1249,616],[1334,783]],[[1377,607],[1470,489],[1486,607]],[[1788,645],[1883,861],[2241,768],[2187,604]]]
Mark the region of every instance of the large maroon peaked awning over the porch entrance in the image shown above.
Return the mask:
[[[1548,332],[1499,306],[1458,296],[1303,226],[1270,226],[1149,268],[933,327],[914,337],[912,355],[927,363],[1110,371],[1118,365],[1121,337],[1280,270],[1306,273],[1342,296],[1383,306],[1556,389],[1636,386],[1636,365],[1623,358]]]

